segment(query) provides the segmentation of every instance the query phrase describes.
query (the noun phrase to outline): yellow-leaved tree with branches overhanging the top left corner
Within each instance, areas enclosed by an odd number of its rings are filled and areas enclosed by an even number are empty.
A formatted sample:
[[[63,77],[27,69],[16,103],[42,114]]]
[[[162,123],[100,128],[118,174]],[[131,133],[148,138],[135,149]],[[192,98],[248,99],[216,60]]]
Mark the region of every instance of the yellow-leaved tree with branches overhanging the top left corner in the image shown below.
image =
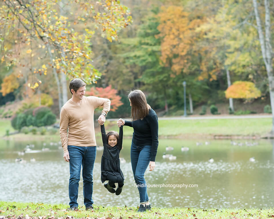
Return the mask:
[[[65,7],[70,7],[70,14]],[[88,84],[100,78],[90,58],[94,30],[102,29],[112,42],[118,39],[118,31],[132,22],[128,8],[117,0],[95,4],[91,0],[5,0],[0,3],[0,13],[2,62],[8,67],[26,66],[26,81],[31,79],[27,84],[33,89],[42,83],[38,76],[53,68],[56,80],[57,74],[62,75],[61,83],[57,82],[59,92],[66,83],[65,74]]]

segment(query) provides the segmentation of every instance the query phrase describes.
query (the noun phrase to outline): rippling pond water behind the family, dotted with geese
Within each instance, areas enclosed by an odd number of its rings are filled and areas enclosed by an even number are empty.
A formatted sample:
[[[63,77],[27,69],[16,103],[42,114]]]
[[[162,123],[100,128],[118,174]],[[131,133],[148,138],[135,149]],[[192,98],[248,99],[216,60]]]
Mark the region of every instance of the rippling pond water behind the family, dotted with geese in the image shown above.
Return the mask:
[[[258,144],[250,144],[239,141],[235,144],[228,140],[205,143],[161,139],[156,168],[152,172],[146,171],[145,179],[148,186],[164,184],[164,187],[148,188],[150,201],[157,207],[272,207],[273,145],[265,140],[257,142]],[[59,143],[29,142],[28,146],[22,142],[0,143],[1,200],[51,204],[69,202],[69,165],[63,161],[63,150]],[[101,183],[102,151],[97,151],[94,165],[94,204],[139,204],[139,193],[134,186],[130,164],[130,139],[124,139],[123,147],[120,157],[126,161],[121,163],[125,185],[119,196],[109,193]],[[163,158],[164,153],[176,156],[176,159]],[[254,157],[254,162],[249,161],[251,157]],[[16,158],[25,162],[15,162]],[[211,158],[214,160],[212,163],[209,162]],[[198,184],[198,188],[165,187],[168,184]],[[80,205],[83,205],[82,189],[81,179],[78,196]]]

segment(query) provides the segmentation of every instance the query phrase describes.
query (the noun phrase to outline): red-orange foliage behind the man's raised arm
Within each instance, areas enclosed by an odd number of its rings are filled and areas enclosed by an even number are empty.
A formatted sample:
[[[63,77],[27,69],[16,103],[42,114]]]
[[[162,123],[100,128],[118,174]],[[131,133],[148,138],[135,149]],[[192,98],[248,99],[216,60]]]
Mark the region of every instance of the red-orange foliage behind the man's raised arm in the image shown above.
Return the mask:
[[[86,91],[86,94],[89,96],[97,96],[101,98],[110,99],[110,111],[115,111],[119,106],[123,105],[120,101],[121,97],[117,95],[117,90],[112,89],[111,85],[106,88],[94,88],[92,87],[90,91]]]

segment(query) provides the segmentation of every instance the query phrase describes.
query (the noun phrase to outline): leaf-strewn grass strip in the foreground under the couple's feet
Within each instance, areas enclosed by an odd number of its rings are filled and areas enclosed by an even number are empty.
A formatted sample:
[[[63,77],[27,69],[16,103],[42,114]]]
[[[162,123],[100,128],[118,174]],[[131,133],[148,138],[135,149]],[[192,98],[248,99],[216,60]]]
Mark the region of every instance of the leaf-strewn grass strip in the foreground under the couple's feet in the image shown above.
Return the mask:
[[[137,207],[94,206],[94,211],[86,211],[80,206],[78,211],[67,211],[63,204],[33,204],[18,202],[0,202],[0,218],[25,219],[124,219],[124,218],[271,218],[273,209],[198,209],[198,208],[155,208],[150,212],[136,212]]]

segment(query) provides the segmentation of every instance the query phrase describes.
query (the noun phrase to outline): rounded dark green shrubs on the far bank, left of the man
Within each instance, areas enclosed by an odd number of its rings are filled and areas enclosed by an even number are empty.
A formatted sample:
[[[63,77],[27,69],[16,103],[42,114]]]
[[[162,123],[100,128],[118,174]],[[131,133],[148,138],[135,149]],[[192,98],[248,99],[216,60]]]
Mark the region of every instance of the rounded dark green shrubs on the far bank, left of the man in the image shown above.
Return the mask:
[[[56,115],[49,108],[37,107],[15,115],[11,120],[11,125],[15,130],[21,130],[22,127],[31,125],[36,127],[52,125],[55,121]]]

